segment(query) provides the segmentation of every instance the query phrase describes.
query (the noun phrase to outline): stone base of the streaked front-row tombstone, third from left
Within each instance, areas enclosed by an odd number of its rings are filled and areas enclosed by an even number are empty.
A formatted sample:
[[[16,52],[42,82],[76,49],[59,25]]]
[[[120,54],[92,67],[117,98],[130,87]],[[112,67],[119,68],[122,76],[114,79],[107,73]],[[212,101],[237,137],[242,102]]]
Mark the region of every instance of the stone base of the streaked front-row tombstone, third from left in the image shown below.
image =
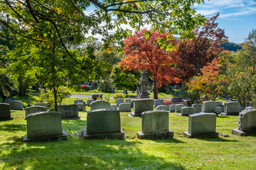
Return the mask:
[[[166,132],[153,132],[153,133],[143,133],[137,132],[137,137],[139,140],[166,140],[174,137],[174,131],[169,130]]]

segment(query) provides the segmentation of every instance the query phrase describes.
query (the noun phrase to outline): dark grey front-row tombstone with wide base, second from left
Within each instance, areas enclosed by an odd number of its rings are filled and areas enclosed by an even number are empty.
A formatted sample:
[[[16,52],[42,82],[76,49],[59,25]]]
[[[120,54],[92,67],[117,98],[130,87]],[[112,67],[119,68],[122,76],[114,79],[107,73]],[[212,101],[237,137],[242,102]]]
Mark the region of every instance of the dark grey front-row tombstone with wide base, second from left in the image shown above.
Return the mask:
[[[84,139],[124,140],[119,111],[110,109],[88,111],[87,131],[82,132],[82,137]]]

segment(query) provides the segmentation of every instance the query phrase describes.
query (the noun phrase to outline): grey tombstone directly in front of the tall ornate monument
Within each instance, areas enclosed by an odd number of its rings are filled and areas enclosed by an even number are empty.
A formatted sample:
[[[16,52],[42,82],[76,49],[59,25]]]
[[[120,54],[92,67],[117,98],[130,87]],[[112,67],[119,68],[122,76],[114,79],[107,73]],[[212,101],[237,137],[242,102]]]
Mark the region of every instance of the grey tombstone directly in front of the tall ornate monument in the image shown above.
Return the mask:
[[[153,103],[153,98],[135,99],[133,104],[134,111],[131,113],[131,116],[142,116],[144,111],[153,111]]]

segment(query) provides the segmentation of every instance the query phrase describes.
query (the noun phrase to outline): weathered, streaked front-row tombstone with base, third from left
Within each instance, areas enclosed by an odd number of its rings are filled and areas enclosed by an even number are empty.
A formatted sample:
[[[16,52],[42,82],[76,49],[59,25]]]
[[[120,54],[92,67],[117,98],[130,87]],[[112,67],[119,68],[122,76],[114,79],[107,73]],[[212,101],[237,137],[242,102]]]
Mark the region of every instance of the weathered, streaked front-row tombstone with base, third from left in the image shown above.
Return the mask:
[[[142,113],[142,132],[137,132],[141,140],[160,140],[174,137],[169,130],[168,111],[145,111]]]

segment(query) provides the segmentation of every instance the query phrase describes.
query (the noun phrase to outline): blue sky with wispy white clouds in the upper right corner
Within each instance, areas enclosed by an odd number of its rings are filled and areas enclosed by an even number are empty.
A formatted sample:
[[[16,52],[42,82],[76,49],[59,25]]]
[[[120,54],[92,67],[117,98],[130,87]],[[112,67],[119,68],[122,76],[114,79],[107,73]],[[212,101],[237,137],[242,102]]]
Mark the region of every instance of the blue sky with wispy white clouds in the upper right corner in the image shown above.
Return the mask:
[[[230,42],[242,43],[252,28],[256,29],[256,0],[206,0],[204,4],[194,7],[204,16],[219,12],[216,22],[225,29]]]

